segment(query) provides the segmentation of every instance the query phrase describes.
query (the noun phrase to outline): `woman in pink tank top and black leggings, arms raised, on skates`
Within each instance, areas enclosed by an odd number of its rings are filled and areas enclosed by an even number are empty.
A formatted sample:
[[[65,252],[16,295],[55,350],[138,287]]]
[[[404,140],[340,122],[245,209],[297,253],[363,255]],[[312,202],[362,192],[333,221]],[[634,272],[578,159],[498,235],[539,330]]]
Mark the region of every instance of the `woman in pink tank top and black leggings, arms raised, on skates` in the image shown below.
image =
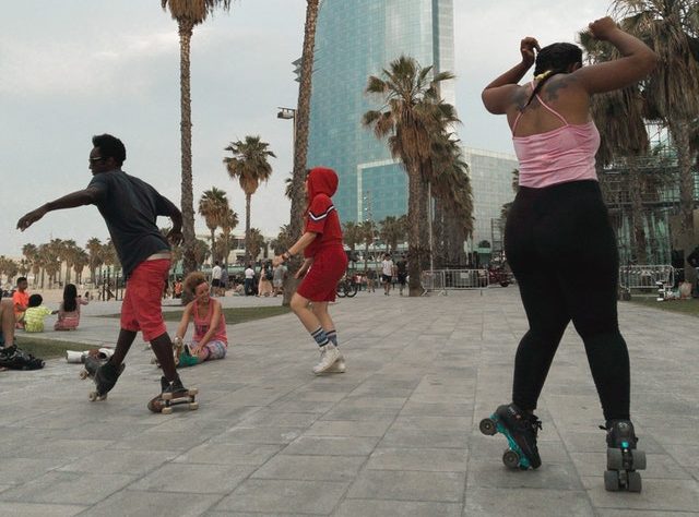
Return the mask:
[[[636,450],[629,416],[629,357],[616,311],[616,238],[596,181],[600,134],[589,109],[593,94],[630,86],[653,70],[657,57],[609,17],[591,23],[590,33],[611,43],[621,57],[583,67],[577,46],[540,49],[535,38],[526,37],[520,45],[521,62],[483,92],[487,110],[507,116],[520,161],[520,188],[506,225],[505,251],[530,328],[514,360],[512,402],[484,420],[482,431],[500,431],[513,441],[517,461],[508,465],[541,466],[536,440],[542,422],[534,410],[572,321],[602,402],[607,447],[615,449],[608,456],[605,488],[639,491],[636,470],[644,468],[645,458]],[[534,62],[534,80],[520,86]],[[624,467],[615,462],[619,448],[636,462]]]

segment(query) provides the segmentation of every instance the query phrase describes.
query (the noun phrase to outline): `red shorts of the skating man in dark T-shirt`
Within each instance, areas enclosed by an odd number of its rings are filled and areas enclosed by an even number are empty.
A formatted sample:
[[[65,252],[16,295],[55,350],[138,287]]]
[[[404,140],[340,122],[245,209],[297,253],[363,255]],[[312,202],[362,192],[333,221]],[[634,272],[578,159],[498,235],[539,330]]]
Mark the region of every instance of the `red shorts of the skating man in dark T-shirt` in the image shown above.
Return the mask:
[[[143,261],[135,266],[121,303],[121,328],[141,330],[146,341],[167,332],[161,299],[169,270],[169,260]]]

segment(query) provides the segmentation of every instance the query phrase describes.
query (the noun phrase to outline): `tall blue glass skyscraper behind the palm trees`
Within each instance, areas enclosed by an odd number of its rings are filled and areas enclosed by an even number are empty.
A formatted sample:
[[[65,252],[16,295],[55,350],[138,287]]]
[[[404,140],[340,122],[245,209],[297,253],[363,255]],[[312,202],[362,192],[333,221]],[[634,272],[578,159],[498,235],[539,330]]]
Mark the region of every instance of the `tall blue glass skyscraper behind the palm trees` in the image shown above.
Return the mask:
[[[364,94],[369,75],[401,55],[454,71],[453,0],[321,0],[307,163],[337,171],[333,200],[343,221],[407,213],[405,170],[362,125],[366,111],[381,108]],[[454,104],[452,82],[441,94]]]

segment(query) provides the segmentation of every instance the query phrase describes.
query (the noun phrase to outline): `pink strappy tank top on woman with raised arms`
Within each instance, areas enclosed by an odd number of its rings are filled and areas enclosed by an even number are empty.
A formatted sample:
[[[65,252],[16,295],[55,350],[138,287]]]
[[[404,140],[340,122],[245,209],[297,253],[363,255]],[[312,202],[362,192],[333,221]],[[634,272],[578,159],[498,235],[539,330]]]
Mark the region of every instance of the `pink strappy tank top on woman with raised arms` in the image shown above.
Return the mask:
[[[569,181],[596,181],[594,156],[600,147],[600,132],[594,122],[569,124],[538,94],[536,98],[565,125],[530,136],[512,136],[514,153],[520,163],[520,187],[541,189]],[[521,116],[522,112],[514,119],[512,133]]]

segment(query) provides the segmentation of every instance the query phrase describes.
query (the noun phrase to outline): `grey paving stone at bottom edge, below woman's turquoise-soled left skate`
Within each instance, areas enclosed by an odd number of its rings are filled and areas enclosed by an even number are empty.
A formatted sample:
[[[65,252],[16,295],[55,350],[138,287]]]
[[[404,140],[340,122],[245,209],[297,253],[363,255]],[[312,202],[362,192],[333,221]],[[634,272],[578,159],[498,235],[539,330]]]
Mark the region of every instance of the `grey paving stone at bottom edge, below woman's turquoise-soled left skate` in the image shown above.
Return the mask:
[[[593,517],[595,510],[582,490],[469,489],[464,517]]]

